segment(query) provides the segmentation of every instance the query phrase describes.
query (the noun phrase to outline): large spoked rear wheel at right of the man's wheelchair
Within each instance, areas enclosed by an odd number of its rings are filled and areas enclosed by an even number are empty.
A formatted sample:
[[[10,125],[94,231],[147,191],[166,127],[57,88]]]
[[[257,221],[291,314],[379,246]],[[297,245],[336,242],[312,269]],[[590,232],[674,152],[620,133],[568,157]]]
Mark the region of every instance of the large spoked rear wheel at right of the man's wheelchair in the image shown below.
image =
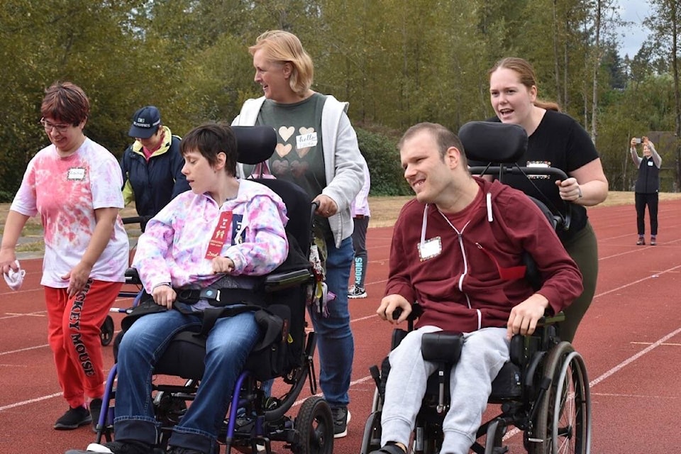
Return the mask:
[[[591,398],[582,356],[561,342],[546,359],[551,384],[534,425],[530,454],[588,454],[591,446]]]

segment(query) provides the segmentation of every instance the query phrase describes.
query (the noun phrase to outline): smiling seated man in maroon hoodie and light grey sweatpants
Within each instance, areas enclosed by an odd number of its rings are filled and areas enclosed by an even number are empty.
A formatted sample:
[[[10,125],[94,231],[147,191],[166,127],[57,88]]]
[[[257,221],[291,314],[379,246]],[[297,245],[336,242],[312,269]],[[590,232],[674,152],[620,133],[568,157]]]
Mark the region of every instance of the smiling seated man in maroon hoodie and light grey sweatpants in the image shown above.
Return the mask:
[[[582,275],[546,216],[522,192],[472,177],[463,145],[441,125],[419,123],[399,142],[404,177],[416,199],[394,226],[389,278],[377,314],[401,323],[418,301],[423,315],[389,355],[382,410],[382,448],[401,454],[426,392],[432,362],[421,355],[423,333],[458,331],[465,343],[450,377],[443,453],[468,453],[492,381],[509,360],[514,334],[531,334],[582,292]],[[543,277],[534,291],[524,278],[528,252]],[[402,314],[393,320],[397,309]]]

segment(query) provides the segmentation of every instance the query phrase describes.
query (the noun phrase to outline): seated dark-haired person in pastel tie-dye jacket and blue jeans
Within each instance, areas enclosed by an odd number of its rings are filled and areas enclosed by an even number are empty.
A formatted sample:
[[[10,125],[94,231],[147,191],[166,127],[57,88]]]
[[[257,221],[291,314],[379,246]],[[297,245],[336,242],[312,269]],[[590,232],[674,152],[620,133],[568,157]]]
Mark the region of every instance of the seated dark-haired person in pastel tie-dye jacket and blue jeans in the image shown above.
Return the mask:
[[[182,290],[248,288],[288,253],[282,199],[257,182],[237,179],[236,138],[228,126],[206,123],[182,140],[182,173],[192,187],[152,218],[139,238],[133,267],[156,311],[137,319],[118,351],[115,441],[90,445],[100,453],[153,453],[157,422],[150,392],[155,362],[179,331],[201,327],[204,299],[182,302]],[[223,292],[224,294],[224,292]],[[168,441],[168,453],[216,453],[236,378],[260,328],[252,311],[218,319],[206,341],[204,378]]]

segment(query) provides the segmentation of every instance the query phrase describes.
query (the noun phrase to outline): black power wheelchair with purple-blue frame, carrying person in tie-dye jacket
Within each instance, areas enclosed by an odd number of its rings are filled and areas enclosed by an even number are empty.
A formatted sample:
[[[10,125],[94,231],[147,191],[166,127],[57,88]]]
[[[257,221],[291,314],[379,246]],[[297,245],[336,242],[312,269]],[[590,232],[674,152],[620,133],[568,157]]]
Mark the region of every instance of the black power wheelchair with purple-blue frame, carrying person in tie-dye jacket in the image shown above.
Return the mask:
[[[257,164],[267,160],[274,152],[276,135],[272,128],[238,126],[233,127],[233,130],[237,136],[239,162]],[[333,418],[326,400],[315,396],[316,375],[312,358],[316,338],[314,331],[306,332],[305,319],[306,305],[315,284],[307,258],[311,245],[312,216],[316,207],[309,201],[309,196],[294,184],[277,179],[256,181],[282,197],[289,217],[286,226],[289,249],[298,247],[298,257],[305,260],[304,263],[301,260],[292,263],[287,259],[284,265],[263,277],[258,287],[258,298],[248,300],[258,300],[262,309],[274,316],[276,323],[268,325],[265,341],[261,341],[260,348],[250,354],[245,369],[236,381],[231,405],[218,435],[218,445],[224,448],[216,448],[224,449],[226,453],[235,449],[270,454],[271,443],[282,442],[284,448],[297,454],[331,454]],[[126,279],[128,284],[139,284],[136,270],[128,270]],[[220,299],[219,294],[212,295],[212,298]],[[204,315],[204,326],[206,318]],[[177,377],[184,379],[184,384],[160,384],[157,381],[165,377],[157,377],[152,384],[155,416],[160,426],[155,452],[165,452],[172,427],[182,419],[187,405],[194,399],[196,389],[201,386],[205,346],[200,334],[177,334],[155,365],[155,375],[175,376],[174,382],[182,381],[177,380]],[[118,343],[116,339],[114,355]],[[284,383],[284,392],[270,396],[263,384],[274,378]],[[95,443],[101,443],[103,438],[106,441],[115,438],[112,425],[115,415],[115,379],[116,365],[109,372],[106,383],[101,414],[96,424]],[[296,417],[288,416],[287,412],[292,409],[306,382],[309,383],[312,396],[304,400]]]

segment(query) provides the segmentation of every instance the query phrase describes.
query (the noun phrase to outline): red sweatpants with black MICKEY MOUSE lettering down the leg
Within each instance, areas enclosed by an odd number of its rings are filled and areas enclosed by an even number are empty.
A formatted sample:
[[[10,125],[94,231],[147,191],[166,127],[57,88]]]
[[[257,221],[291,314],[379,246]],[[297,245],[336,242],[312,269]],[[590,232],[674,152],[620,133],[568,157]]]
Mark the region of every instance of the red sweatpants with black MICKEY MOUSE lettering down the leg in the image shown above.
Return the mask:
[[[89,279],[82,292],[69,298],[67,289],[45,287],[48,342],[57,378],[72,408],[104,394],[104,361],[99,332],[114,305],[122,282]]]

